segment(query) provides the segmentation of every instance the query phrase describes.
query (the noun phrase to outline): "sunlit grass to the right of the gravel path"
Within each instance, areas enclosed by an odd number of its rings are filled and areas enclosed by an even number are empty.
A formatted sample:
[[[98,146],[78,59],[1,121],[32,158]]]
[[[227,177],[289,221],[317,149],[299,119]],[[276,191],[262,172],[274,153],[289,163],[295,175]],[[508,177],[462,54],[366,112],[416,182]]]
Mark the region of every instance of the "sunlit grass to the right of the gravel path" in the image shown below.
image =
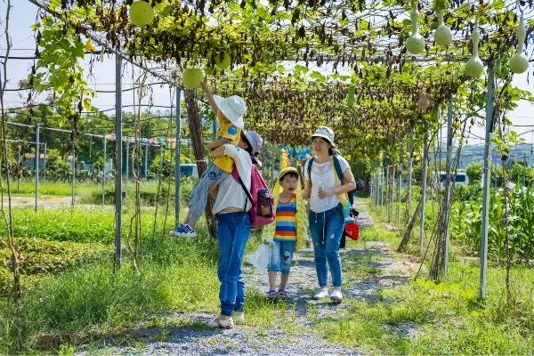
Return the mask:
[[[361,240],[383,240],[392,247],[400,242],[398,235],[385,230],[381,223],[362,229]],[[506,271],[491,265],[488,298],[481,303],[478,265],[461,263],[459,251],[452,249],[447,277],[440,284],[423,276],[406,285],[382,289],[374,300],[351,301],[351,307],[334,319],[315,319],[314,329],[331,342],[363,353],[534,353],[534,270],[514,266],[513,299],[509,302]],[[366,258],[360,255],[357,263],[362,266],[352,272],[366,271],[373,263],[372,258]]]

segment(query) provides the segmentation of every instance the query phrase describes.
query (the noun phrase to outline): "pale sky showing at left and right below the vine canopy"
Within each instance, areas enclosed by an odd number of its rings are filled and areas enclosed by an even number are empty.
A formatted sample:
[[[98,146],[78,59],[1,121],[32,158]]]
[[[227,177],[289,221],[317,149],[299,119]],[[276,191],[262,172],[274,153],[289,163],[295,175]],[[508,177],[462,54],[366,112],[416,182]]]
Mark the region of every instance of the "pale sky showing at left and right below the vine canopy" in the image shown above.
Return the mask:
[[[10,29],[12,35],[12,53],[11,56],[30,57],[35,53],[35,38],[30,25],[36,20],[36,6],[30,4],[26,0],[12,0],[12,15],[10,21]],[[4,13],[6,10],[5,1],[0,3],[0,21],[2,21],[2,28],[4,28]],[[0,37],[0,53],[5,53],[5,38]],[[87,56],[91,57],[91,56]],[[93,56],[94,58],[94,56]],[[8,89],[15,89],[18,87],[20,79],[28,76],[28,71],[32,65],[32,61],[27,60],[10,60],[8,61]],[[89,58],[85,61],[85,71],[89,73]],[[527,82],[528,73],[530,72],[530,84]],[[134,75],[139,76],[140,70],[134,69]],[[157,78],[150,78],[149,82],[158,82]],[[113,55],[105,55],[104,61],[93,61],[93,69],[88,82],[95,90],[113,91],[115,89],[115,58]],[[131,87],[133,83],[133,68],[131,64],[125,65],[123,88]],[[513,85],[522,89],[534,92],[534,63],[530,63],[530,69],[522,75],[515,75]],[[153,85],[152,104],[154,106],[169,106],[171,102],[169,85]],[[5,103],[9,108],[23,106],[26,100],[27,93],[25,92],[8,92],[6,93]],[[123,105],[125,111],[130,111],[133,108],[127,107],[132,105],[134,101],[134,91],[125,92],[123,94]],[[145,101],[148,104],[148,100]],[[111,109],[109,114],[113,114],[115,107],[114,93],[97,93],[97,97],[93,100],[93,106],[101,109]],[[165,108],[154,108],[152,112],[157,110],[165,112]],[[534,142],[534,103],[529,101],[520,101],[517,109],[508,114],[514,125],[514,131],[522,134],[525,142]],[[521,125],[530,125],[530,127],[522,127]],[[473,135],[481,138],[485,135],[484,127],[474,127]],[[446,137],[446,132],[442,134]],[[483,143],[483,140],[472,136],[468,140],[468,144]]]

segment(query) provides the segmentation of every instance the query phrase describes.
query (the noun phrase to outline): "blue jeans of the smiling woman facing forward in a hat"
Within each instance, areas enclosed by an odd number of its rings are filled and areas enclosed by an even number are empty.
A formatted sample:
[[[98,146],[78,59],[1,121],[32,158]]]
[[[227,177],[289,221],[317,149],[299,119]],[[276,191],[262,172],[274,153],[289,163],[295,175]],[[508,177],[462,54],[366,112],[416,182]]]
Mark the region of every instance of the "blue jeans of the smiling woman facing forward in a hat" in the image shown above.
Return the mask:
[[[320,287],[328,285],[328,266],[334,287],[341,287],[342,271],[339,258],[339,240],[344,231],[344,217],[341,205],[324,213],[308,214],[315,253],[315,271]]]

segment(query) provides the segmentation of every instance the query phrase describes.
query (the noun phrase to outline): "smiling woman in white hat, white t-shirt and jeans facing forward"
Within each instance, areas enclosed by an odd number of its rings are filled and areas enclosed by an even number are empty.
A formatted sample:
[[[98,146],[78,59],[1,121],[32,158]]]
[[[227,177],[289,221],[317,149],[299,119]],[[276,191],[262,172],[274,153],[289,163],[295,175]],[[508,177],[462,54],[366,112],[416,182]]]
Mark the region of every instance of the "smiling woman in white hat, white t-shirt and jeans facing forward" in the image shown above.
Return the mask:
[[[346,193],[353,190],[356,184],[348,162],[335,155],[334,131],[331,128],[320,126],[312,134],[312,145],[315,157],[304,165],[302,197],[310,199],[308,222],[320,287],[314,297],[319,299],[329,296],[334,302],[341,302],[343,294],[339,241],[344,231],[341,203],[346,201]],[[331,294],[328,294],[328,266],[333,285]]]

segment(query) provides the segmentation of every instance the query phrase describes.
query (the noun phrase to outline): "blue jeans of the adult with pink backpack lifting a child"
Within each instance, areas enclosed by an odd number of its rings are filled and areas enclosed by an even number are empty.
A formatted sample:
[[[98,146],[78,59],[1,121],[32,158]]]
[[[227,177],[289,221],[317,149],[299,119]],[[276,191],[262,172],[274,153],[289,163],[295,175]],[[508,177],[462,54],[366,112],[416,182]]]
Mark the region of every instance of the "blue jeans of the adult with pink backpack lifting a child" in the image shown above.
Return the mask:
[[[217,276],[221,282],[219,300],[223,315],[231,316],[234,311],[242,311],[245,305],[245,281],[241,263],[249,235],[250,218],[247,212],[217,214]]]

